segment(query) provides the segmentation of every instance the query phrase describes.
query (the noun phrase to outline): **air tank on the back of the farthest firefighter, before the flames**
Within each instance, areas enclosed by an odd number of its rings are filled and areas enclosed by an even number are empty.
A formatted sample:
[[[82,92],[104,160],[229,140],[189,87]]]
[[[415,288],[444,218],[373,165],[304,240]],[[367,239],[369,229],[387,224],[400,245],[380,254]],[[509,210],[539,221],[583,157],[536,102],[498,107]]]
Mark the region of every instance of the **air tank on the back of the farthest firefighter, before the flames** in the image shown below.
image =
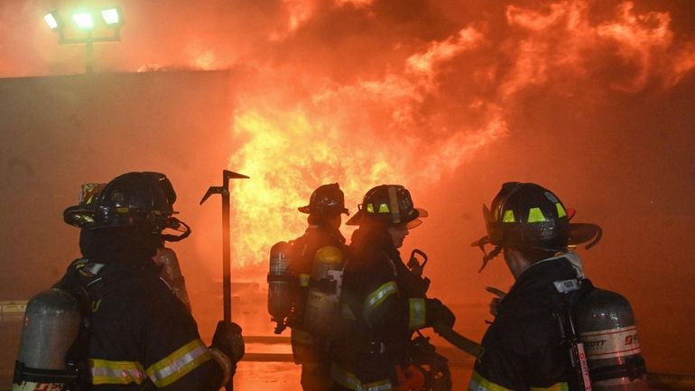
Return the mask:
[[[285,319],[292,311],[291,275],[287,270],[290,264],[292,245],[278,242],[270,249],[270,269],[268,271],[268,313],[271,321],[277,323],[275,334],[285,328]]]

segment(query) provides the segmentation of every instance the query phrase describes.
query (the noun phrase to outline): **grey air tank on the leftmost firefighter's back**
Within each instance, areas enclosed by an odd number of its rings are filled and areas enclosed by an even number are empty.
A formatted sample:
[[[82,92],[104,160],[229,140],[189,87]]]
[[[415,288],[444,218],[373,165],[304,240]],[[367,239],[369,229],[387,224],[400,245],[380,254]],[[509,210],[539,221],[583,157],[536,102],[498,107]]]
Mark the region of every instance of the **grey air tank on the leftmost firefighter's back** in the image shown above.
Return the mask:
[[[24,312],[13,391],[61,391],[76,383],[65,357],[81,319],[79,303],[70,293],[53,288],[32,297]]]

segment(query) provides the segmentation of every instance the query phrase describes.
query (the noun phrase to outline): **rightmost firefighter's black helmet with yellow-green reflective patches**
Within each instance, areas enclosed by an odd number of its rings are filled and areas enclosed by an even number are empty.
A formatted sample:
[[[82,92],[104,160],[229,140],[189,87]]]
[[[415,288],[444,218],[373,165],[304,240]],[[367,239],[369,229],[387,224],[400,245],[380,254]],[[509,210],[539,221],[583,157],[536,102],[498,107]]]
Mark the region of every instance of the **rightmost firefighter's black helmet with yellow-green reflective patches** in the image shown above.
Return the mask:
[[[487,235],[474,246],[489,243],[558,252],[592,238],[587,248],[593,247],[601,237],[597,225],[570,223],[574,210],[565,208],[552,191],[535,183],[504,183],[491,209],[483,205],[483,216]]]

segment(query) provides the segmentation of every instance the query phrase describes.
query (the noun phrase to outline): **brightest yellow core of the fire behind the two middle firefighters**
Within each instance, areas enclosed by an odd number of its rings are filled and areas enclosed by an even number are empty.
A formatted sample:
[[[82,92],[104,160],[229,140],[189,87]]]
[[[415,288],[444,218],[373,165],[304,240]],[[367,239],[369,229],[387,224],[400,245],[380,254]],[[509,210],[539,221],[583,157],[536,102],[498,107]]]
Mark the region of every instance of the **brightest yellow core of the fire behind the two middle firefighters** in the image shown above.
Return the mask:
[[[352,151],[354,144],[340,129],[302,109],[242,110],[234,134],[245,142],[229,166],[251,177],[232,190],[235,259],[243,265],[265,260],[273,243],[301,235],[306,221],[297,208],[320,184],[338,182],[354,212],[366,189],[396,182],[403,172],[398,156]]]

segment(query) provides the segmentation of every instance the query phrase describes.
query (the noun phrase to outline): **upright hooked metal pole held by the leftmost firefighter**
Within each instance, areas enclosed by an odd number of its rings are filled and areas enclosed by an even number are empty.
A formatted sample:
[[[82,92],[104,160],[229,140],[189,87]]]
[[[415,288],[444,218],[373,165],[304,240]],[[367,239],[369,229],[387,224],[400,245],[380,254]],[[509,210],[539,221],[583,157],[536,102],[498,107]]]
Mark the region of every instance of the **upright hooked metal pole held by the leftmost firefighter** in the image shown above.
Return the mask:
[[[222,196],[222,306],[224,309],[224,320],[232,321],[232,276],[231,276],[231,244],[229,237],[229,180],[248,179],[244,174],[222,170],[222,186],[210,186],[208,191],[200,200],[200,205],[208,200],[213,194]],[[231,381],[226,386],[227,391],[234,388]]]

